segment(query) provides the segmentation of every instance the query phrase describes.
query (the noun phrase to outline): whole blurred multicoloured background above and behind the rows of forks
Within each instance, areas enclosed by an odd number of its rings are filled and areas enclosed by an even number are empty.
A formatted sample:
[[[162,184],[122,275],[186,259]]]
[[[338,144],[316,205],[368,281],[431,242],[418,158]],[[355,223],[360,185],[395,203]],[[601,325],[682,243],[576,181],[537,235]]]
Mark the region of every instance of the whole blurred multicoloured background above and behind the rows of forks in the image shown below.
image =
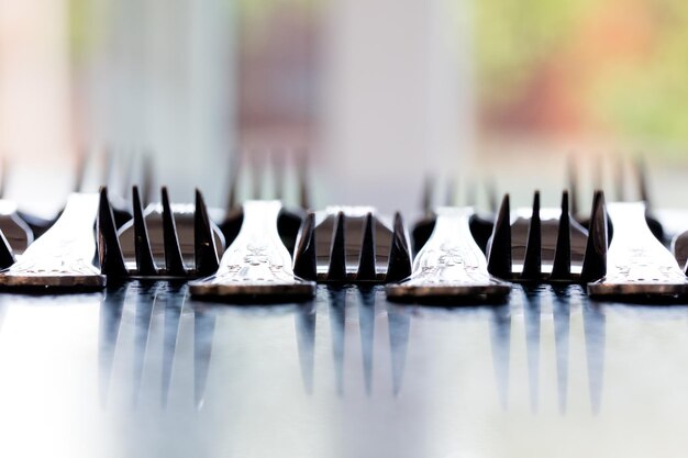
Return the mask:
[[[567,158],[591,182],[643,155],[685,206],[687,55],[681,0],[4,0],[3,186],[53,212],[90,152],[223,205],[237,157],[307,158],[319,208],[418,211],[426,177],[555,204]]]

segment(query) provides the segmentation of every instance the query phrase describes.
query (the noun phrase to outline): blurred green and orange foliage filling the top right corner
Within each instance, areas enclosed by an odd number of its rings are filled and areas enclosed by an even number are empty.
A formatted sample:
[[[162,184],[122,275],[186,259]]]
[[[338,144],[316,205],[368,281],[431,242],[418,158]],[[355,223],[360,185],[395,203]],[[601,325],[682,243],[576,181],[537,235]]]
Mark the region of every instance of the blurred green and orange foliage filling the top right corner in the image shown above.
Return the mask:
[[[557,65],[587,125],[617,138],[688,141],[685,0],[475,1],[479,104],[507,107]]]

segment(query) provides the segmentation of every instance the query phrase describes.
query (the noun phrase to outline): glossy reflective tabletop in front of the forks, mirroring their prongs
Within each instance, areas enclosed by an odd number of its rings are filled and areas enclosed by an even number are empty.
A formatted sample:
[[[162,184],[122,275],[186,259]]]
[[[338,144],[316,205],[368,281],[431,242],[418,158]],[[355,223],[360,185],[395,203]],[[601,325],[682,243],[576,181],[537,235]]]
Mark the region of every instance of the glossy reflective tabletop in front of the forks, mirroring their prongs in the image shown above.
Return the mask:
[[[0,295],[2,457],[684,457],[688,308]]]

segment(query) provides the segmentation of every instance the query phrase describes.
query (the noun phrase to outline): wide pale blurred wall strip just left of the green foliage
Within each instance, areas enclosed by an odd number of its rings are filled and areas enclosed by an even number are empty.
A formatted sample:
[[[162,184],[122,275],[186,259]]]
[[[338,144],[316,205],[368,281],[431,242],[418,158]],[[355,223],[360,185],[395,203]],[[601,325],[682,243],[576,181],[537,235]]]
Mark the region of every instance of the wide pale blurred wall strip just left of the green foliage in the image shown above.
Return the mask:
[[[465,3],[330,0],[320,153],[332,192],[320,204],[418,210],[426,172],[448,176],[468,160],[470,31],[458,26],[470,22]]]

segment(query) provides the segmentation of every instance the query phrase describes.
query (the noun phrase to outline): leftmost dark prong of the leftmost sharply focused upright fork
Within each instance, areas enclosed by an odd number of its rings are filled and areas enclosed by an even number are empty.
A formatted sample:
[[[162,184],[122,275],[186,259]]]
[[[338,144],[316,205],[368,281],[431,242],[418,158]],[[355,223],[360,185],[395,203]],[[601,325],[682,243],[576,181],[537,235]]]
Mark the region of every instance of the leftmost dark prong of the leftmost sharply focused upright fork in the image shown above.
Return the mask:
[[[126,266],[122,247],[114,225],[112,206],[108,200],[108,188],[100,188],[100,203],[98,206],[98,258],[100,271],[108,277],[126,277]]]

